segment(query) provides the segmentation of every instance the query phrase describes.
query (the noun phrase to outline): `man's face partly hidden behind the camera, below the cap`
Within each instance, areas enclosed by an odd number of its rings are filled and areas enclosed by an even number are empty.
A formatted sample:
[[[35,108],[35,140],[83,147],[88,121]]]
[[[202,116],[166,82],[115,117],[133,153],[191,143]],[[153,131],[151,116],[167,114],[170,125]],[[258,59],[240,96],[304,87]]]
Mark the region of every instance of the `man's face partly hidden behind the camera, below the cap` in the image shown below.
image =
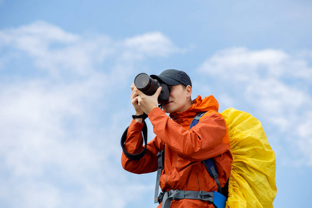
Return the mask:
[[[170,88],[169,102],[162,106],[166,113],[184,112],[187,110],[191,106],[191,93],[187,90],[188,88],[182,85],[174,85]]]

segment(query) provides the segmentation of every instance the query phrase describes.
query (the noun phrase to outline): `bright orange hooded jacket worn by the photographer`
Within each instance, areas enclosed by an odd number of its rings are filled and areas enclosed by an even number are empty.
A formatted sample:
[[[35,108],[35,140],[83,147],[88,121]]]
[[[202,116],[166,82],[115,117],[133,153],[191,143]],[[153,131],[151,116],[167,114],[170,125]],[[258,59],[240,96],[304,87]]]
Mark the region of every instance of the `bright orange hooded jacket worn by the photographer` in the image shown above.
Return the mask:
[[[191,121],[199,112],[207,113],[189,130]],[[148,142],[143,158],[134,161],[122,154],[123,168],[138,174],[157,171],[157,153],[164,150],[164,169],[159,184],[162,191],[216,191],[216,182],[201,162],[214,157],[223,187],[231,171],[232,154],[229,152],[227,127],[223,116],[218,113],[218,102],[214,96],[203,99],[198,96],[188,110],[170,114],[170,117],[158,107],[148,114],[156,137]],[[143,123],[132,120],[125,141],[128,153],[135,154],[143,150],[142,128]],[[209,202],[184,199],[173,200],[171,208],[175,207],[214,206]]]

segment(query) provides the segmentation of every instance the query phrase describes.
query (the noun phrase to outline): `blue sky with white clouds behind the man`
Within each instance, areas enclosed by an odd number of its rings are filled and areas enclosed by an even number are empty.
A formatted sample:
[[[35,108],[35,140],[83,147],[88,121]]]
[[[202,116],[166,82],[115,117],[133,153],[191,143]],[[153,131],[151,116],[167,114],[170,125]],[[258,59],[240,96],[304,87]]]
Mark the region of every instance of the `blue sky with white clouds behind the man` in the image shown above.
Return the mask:
[[[120,137],[133,79],[164,69],[257,117],[274,207],[309,207],[311,19],[311,1],[0,0],[0,207],[156,207]]]

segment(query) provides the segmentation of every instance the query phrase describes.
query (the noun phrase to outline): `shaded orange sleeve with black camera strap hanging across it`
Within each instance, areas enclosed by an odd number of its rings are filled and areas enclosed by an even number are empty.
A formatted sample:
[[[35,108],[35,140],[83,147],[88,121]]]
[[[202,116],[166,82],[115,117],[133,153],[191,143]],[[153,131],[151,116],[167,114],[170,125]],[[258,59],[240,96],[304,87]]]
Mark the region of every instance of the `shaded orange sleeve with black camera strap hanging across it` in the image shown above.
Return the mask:
[[[130,123],[124,144],[125,150],[128,153],[137,154],[143,150],[142,128],[143,123],[137,123],[135,120],[132,120]],[[157,153],[161,150],[162,146],[164,146],[162,145],[162,141],[155,138],[148,142],[144,157],[139,160],[131,160],[122,153],[121,164],[126,171],[131,173],[141,174],[157,171]]]

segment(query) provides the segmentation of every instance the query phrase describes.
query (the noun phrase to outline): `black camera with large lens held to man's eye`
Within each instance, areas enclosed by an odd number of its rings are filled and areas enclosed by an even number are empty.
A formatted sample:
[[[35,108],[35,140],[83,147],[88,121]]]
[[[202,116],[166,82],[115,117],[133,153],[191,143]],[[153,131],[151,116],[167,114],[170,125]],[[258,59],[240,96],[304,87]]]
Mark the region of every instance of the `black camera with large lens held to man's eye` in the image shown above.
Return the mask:
[[[158,87],[162,87],[162,92],[158,96],[158,103],[162,105],[169,101],[170,87],[163,83],[162,80],[151,78],[147,73],[139,73],[135,77],[135,87],[147,96],[152,96]]]

